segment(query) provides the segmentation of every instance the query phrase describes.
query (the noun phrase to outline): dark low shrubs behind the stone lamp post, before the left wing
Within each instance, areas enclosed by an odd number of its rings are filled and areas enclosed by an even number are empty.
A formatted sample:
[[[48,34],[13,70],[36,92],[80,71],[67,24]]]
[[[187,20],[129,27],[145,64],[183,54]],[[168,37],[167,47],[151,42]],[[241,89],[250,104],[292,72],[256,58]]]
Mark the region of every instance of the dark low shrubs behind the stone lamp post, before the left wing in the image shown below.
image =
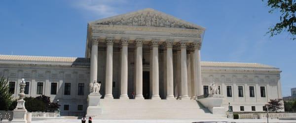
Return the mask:
[[[53,112],[59,108],[55,102],[50,102],[50,97],[45,95],[40,95],[37,97],[25,97],[25,107],[29,112]],[[15,104],[11,105],[10,109],[14,109],[16,107],[16,100],[14,101]]]

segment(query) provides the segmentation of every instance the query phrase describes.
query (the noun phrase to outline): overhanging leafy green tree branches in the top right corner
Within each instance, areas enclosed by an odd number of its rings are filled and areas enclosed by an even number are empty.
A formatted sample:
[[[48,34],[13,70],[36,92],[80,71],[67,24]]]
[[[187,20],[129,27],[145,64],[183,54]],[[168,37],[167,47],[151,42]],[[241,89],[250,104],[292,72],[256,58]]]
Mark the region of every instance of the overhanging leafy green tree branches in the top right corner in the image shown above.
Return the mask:
[[[296,0],[267,0],[267,5],[271,7],[269,13],[275,10],[281,12],[280,22],[269,28],[267,33],[270,37],[280,34],[282,31],[288,31],[292,39],[296,39]]]

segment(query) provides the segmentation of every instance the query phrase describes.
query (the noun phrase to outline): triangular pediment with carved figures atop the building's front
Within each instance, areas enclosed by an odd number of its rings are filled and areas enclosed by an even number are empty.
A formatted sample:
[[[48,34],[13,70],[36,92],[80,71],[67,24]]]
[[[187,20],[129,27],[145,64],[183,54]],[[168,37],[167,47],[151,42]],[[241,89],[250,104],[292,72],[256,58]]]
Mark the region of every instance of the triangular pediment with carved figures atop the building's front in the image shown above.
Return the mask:
[[[93,22],[89,24],[97,25],[126,25],[126,26],[146,26],[146,27],[166,27],[205,30],[205,28],[177,19],[171,15],[146,8],[136,12],[117,15]]]

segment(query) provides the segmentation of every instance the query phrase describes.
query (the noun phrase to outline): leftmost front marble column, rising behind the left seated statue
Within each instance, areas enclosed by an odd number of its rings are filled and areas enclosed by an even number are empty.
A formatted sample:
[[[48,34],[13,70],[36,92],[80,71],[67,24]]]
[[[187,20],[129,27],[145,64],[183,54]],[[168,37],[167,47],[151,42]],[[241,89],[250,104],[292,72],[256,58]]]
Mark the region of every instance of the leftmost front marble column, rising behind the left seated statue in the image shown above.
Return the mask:
[[[90,55],[90,83],[93,83],[98,76],[98,41],[96,39],[91,42]]]

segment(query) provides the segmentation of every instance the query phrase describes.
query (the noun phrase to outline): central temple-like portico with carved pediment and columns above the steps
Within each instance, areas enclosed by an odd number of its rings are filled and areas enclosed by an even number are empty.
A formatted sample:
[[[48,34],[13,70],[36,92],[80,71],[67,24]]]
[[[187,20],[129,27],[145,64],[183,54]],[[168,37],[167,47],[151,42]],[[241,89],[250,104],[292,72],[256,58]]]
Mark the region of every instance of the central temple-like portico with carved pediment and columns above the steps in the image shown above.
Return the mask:
[[[204,31],[200,26],[152,9],[90,22],[86,51],[86,56],[91,59],[90,82],[98,80],[105,85],[101,92],[105,99],[131,99],[132,93],[135,99],[144,99],[143,94],[147,93],[143,93],[143,67],[148,67],[150,99],[173,99],[178,95],[178,99],[190,99],[202,94],[199,57]],[[98,52],[101,52],[101,57]],[[178,52],[180,59],[174,64]],[[190,59],[187,59],[187,53],[192,53]],[[129,59],[130,55],[134,59]],[[98,57],[101,58],[99,61]],[[118,61],[113,63],[114,59]],[[192,61],[189,68],[188,60]],[[98,64],[105,69],[98,70]],[[116,67],[119,73],[112,71],[114,64],[120,64]],[[187,69],[192,71],[190,75]],[[105,74],[105,78],[98,78],[99,74]],[[114,81],[114,76],[120,76],[120,82]],[[174,79],[174,76],[178,77]],[[114,89],[114,84],[119,87]],[[174,95],[174,90],[177,95]]]

